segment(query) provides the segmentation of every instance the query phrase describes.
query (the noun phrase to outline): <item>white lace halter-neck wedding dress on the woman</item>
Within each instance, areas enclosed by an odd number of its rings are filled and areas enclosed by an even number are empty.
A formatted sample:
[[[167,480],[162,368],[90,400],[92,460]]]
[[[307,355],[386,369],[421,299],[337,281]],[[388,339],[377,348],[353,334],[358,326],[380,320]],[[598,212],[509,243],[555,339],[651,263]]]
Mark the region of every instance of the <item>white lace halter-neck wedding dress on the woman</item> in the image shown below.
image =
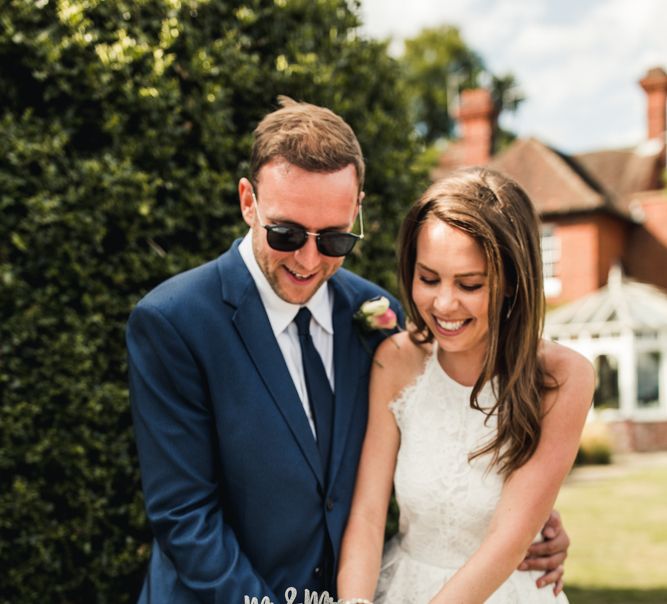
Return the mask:
[[[385,548],[376,604],[427,604],[481,544],[500,498],[501,478],[485,473],[488,456],[468,462],[487,442],[493,418],[470,408],[471,388],[452,380],[432,354],[424,373],[391,403],[401,431],[394,487],[398,534]],[[492,403],[487,386],[479,397]],[[515,571],[487,600],[493,604],[567,603],[542,573]]]

